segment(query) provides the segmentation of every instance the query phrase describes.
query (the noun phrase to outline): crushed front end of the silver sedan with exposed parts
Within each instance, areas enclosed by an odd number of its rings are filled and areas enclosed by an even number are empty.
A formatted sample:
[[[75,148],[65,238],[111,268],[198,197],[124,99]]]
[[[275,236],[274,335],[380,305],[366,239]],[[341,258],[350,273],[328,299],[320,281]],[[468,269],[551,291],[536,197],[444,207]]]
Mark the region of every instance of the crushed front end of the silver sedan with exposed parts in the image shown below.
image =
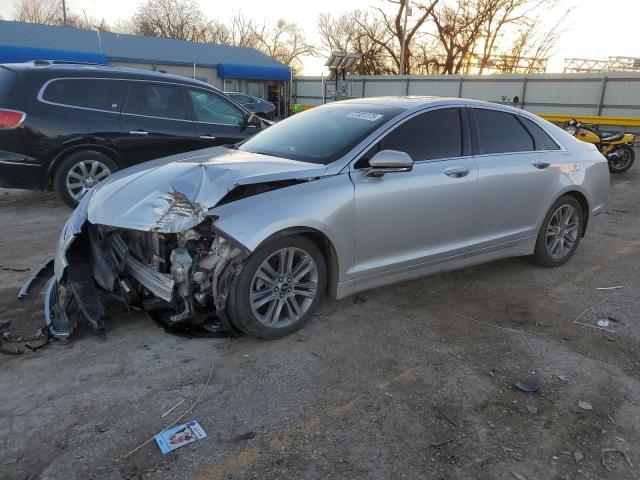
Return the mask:
[[[91,224],[87,204],[84,198],[60,236],[45,299],[52,335],[66,338],[73,332],[69,312],[74,309],[104,333],[108,297],[168,326],[236,333],[224,310],[231,279],[247,252],[215,228],[215,217],[177,233],[140,231]]]

